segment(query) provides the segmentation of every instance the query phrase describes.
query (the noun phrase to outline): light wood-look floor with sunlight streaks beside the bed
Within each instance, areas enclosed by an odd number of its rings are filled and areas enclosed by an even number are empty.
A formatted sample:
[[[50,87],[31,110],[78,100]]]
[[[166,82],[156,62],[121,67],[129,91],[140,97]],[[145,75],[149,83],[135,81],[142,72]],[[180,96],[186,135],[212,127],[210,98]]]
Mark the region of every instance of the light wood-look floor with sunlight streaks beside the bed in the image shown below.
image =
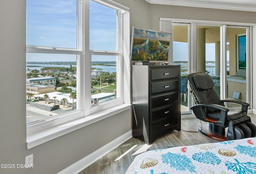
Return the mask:
[[[256,125],[256,115],[249,113],[248,116],[251,117],[252,123]],[[151,145],[146,145],[140,139],[131,138],[79,172],[79,174],[125,174],[134,158],[142,152],[154,149],[218,142],[197,132],[200,124],[199,119],[182,119],[182,131],[167,133],[156,139]],[[202,124],[206,123],[202,121]]]

